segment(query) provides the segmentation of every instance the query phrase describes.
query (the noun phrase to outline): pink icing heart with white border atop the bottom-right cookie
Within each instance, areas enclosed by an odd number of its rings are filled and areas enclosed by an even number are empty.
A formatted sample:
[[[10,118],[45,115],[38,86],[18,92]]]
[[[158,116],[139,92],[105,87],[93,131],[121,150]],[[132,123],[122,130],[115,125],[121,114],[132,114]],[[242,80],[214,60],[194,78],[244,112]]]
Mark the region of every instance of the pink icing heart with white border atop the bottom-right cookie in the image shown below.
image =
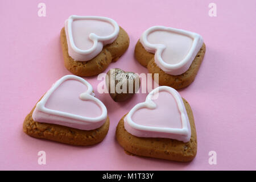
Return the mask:
[[[188,142],[191,127],[180,94],[168,86],[152,90],[145,102],[126,115],[125,129],[137,137],[171,138]]]

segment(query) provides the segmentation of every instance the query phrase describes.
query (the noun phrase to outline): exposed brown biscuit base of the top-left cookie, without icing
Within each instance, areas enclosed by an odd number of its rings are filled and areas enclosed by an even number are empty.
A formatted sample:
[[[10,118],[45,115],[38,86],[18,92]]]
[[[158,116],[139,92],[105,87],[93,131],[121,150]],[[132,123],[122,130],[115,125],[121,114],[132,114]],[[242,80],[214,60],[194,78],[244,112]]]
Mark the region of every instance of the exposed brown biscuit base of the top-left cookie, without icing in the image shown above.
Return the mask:
[[[65,28],[60,32],[61,48],[63,50],[64,65],[71,73],[77,76],[95,76],[104,72],[110,63],[117,61],[129,47],[129,36],[122,27],[113,43],[107,44],[102,51],[89,61],[75,61],[68,54],[67,37]]]

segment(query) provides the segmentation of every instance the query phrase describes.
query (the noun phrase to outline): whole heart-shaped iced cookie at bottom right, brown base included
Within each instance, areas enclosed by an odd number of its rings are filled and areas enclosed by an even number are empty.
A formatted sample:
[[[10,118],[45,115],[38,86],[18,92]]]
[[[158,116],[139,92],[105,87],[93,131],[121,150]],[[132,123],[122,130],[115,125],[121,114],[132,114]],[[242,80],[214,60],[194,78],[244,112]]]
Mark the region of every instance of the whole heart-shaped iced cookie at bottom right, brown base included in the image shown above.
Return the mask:
[[[188,102],[168,86],[152,90],[119,121],[115,137],[128,154],[189,162],[197,152]]]

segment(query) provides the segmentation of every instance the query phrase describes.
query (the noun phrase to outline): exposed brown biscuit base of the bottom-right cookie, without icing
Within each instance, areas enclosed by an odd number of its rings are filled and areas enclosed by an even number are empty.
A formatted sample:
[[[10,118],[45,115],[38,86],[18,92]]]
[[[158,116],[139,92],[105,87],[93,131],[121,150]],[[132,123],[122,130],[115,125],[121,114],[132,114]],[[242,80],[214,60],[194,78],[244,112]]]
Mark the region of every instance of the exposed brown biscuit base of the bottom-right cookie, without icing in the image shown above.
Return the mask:
[[[150,158],[175,160],[178,162],[189,162],[193,160],[197,152],[196,126],[193,113],[188,102],[183,99],[191,125],[191,139],[184,143],[168,138],[143,138],[135,137],[125,130],[125,115],[119,121],[115,131],[118,143],[128,154],[146,156]]]

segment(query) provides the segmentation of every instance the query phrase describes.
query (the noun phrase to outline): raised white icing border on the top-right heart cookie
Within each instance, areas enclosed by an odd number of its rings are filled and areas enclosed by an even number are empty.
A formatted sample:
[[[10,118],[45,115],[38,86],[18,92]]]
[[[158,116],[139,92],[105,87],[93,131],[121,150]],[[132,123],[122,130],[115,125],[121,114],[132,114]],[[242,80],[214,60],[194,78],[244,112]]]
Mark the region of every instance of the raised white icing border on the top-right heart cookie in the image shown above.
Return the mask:
[[[164,62],[161,55],[166,46],[164,46],[163,44],[151,44],[147,41],[148,34],[158,30],[175,32],[177,34],[189,36],[193,39],[191,49],[189,50],[187,56],[185,56],[185,58],[180,61],[180,63],[168,64]],[[148,52],[155,53],[156,64],[158,64],[159,68],[161,68],[164,72],[170,75],[181,75],[182,73],[186,72],[204,43],[202,36],[196,34],[195,32],[164,26],[153,26],[148,28],[146,31],[143,32],[140,42]]]

